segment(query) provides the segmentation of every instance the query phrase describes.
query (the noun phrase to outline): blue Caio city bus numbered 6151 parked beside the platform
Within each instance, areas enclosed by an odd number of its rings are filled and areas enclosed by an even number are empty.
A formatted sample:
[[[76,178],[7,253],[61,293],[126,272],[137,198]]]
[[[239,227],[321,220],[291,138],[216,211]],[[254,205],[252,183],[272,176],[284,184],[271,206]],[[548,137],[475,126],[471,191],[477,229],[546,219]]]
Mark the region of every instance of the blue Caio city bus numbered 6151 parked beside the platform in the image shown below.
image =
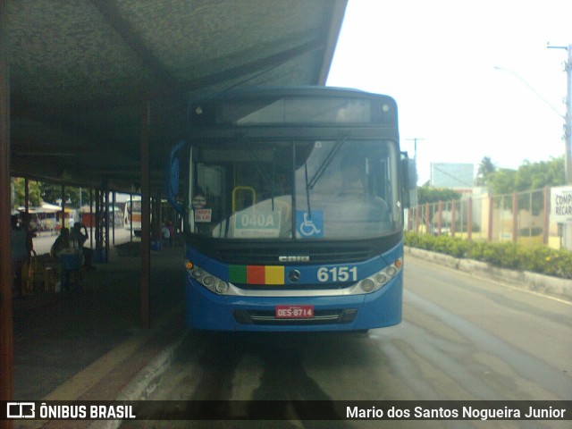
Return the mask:
[[[302,87],[202,99],[167,175],[184,219],[189,326],[400,323],[403,208],[416,179],[391,97]]]

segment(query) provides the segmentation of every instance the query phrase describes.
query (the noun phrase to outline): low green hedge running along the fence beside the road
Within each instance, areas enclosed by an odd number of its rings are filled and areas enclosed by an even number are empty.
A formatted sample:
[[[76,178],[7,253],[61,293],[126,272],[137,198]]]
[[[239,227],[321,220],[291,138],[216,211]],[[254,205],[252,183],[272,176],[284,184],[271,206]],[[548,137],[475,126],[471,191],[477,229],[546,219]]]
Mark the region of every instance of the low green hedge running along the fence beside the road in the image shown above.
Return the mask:
[[[572,252],[565,249],[526,248],[508,241],[484,243],[462,240],[448,235],[435,237],[412,231],[406,231],[405,244],[412,248],[423,248],[451,257],[467,257],[502,268],[572,279]]]

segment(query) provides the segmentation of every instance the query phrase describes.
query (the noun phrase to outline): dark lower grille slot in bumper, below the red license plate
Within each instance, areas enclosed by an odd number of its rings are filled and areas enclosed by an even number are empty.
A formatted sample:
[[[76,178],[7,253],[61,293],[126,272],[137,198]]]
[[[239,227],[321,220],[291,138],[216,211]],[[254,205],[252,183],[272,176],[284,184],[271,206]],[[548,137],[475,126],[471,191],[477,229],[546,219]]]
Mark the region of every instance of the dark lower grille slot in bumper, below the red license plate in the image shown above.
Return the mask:
[[[316,310],[312,318],[277,319],[273,310],[234,310],[234,319],[239,324],[264,325],[315,325],[315,324],[349,324],[357,315],[357,308],[333,310]]]

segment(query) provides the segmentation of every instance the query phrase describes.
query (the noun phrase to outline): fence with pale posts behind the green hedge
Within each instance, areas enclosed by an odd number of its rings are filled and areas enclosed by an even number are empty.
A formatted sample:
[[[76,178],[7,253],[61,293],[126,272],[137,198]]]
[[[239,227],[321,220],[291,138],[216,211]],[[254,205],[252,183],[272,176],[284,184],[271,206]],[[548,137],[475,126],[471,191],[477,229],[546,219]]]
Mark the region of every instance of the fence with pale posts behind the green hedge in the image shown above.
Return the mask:
[[[407,230],[562,248],[561,225],[550,221],[550,202],[550,189],[544,188],[426,203],[408,210]]]

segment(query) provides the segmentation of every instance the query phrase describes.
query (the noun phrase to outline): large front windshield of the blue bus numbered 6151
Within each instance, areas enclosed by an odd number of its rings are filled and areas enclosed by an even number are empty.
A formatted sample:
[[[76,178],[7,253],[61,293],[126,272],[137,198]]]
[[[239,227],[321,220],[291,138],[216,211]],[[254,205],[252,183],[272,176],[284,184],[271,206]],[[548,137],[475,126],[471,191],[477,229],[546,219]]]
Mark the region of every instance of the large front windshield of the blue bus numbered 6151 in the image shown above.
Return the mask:
[[[352,240],[402,228],[391,140],[220,141],[190,154],[189,231],[231,240]]]

